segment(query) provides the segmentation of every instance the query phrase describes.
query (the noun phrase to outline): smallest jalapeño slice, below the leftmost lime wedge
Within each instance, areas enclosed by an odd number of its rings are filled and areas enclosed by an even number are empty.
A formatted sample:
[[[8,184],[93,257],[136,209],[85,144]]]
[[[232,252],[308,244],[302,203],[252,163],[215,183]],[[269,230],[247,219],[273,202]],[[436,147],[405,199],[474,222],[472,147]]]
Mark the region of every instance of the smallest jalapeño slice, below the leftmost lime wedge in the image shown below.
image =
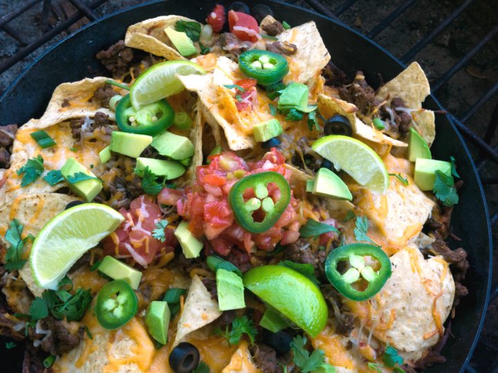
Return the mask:
[[[95,305],[95,316],[105,329],[126,325],[138,311],[138,299],[124,280],[114,280],[100,289]]]

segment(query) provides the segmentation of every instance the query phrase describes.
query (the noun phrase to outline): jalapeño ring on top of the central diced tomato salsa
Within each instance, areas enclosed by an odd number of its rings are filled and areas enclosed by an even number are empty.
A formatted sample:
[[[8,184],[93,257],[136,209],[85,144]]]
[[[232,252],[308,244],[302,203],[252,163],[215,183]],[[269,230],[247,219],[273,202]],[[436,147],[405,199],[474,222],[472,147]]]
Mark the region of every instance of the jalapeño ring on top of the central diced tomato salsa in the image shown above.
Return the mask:
[[[268,184],[279,189],[278,200],[269,196]],[[254,195],[245,198],[244,195]],[[278,195],[278,194],[277,194]],[[252,233],[268,231],[279,220],[291,201],[291,187],[281,174],[275,171],[254,173],[241,178],[230,189],[228,203],[237,222]]]

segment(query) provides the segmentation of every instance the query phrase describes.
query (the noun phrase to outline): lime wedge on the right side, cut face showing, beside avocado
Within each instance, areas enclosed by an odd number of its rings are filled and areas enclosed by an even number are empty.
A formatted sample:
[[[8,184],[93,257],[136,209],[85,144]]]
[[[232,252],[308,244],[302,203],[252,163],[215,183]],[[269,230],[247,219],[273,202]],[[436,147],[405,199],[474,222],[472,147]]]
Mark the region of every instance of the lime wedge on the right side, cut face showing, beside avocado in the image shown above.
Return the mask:
[[[371,191],[384,194],[389,186],[389,175],[384,162],[367,144],[353,137],[324,136],[311,146],[314,151],[344,170],[356,182]]]

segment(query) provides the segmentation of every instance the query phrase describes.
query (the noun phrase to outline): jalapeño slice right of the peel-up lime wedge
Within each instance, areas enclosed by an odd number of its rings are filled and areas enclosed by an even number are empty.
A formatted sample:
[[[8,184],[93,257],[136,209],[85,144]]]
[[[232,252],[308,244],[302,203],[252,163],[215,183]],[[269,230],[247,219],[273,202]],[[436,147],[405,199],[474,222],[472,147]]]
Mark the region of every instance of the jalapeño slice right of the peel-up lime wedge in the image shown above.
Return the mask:
[[[380,247],[361,243],[344,245],[327,256],[325,274],[346,298],[367,300],[391,277],[391,261]]]

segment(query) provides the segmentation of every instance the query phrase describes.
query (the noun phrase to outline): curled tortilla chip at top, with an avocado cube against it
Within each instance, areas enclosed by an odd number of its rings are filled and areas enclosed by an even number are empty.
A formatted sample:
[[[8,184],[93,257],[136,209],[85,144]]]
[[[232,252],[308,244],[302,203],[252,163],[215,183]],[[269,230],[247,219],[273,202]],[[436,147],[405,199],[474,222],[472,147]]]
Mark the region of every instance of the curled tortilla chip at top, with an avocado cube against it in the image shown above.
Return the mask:
[[[196,22],[195,19],[177,15],[147,19],[129,26],[126,36],[124,37],[124,44],[131,48],[145,50],[145,52],[152,53],[156,56],[165,57],[166,59],[186,60],[187,58],[183,57],[174,48],[174,45],[164,31],[168,26],[174,28],[176,21]]]

